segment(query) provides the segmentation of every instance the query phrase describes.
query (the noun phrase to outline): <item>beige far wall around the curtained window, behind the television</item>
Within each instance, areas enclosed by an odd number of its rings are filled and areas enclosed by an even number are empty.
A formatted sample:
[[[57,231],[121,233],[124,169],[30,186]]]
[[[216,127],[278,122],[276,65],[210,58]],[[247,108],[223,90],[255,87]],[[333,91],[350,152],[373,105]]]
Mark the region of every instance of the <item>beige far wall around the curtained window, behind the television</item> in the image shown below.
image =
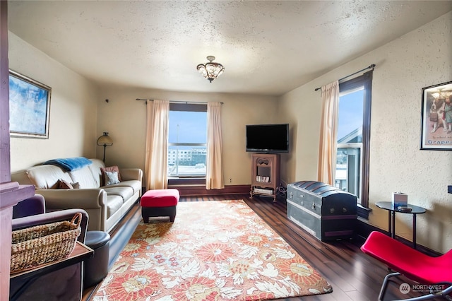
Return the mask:
[[[223,102],[222,137],[225,184],[251,183],[251,155],[245,152],[245,125],[275,122],[276,98],[227,93],[183,93],[139,88],[104,87],[98,101],[97,135],[108,131],[114,139],[106,164],[141,167],[145,155],[145,102],[136,98],[192,102]],[[108,99],[109,102],[105,100]],[[102,158],[103,148],[97,148]],[[232,183],[228,181],[232,179]]]

